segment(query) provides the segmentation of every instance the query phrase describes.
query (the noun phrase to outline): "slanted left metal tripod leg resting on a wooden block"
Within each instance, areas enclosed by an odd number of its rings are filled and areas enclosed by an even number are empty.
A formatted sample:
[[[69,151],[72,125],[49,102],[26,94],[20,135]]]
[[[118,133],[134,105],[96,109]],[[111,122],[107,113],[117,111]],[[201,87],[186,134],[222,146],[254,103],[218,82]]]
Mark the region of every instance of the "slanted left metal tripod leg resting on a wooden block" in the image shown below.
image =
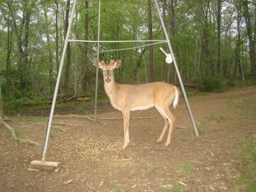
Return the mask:
[[[65,44],[64,44],[64,47],[63,47],[63,52],[62,52],[62,56],[61,56],[61,60],[60,60],[59,72],[58,72],[58,77],[57,77],[55,91],[54,91],[53,100],[52,100],[52,108],[51,108],[50,118],[49,118],[48,127],[47,127],[44,152],[42,152],[42,162],[46,161],[46,152],[47,152],[47,147],[48,147],[48,141],[49,141],[51,126],[52,126],[53,113],[54,113],[56,98],[57,98],[57,94],[58,94],[61,71],[62,71],[62,67],[63,67],[63,63],[64,63],[64,59],[65,59],[65,54],[66,54],[67,46],[68,46],[68,42],[69,42],[70,30],[71,30],[71,26],[72,26],[72,23],[73,23],[73,17],[74,17],[74,13],[75,13],[76,3],[77,3],[77,0],[74,0],[72,12],[71,12],[71,17],[70,17],[70,22],[69,22],[69,27],[68,27],[68,31],[67,31],[67,35],[66,35],[66,39],[65,39]]]

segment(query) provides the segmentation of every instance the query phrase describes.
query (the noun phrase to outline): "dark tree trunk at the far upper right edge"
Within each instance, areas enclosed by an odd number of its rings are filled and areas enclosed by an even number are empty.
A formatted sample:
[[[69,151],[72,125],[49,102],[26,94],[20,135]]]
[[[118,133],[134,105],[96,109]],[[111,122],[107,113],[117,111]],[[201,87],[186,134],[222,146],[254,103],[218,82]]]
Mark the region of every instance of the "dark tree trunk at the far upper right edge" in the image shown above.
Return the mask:
[[[248,39],[249,39],[249,53],[250,53],[250,71],[253,76],[255,76],[256,72],[256,64],[255,64],[255,34],[253,38],[252,34],[252,28],[251,28],[251,16],[248,8],[248,0],[243,1],[243,8],[244,8],[244,18],[245,18],[245,23],[246,23],[246,28],[247,28],[247,34],[248,34]],[[254,9],[254,15],[255,15],[255,7],[253,6]],[[256,18],[254,18],[256,19]],[[256,20],[255,23],[256,24]],[[255,26],[254,26],[254,31],[255,31]]]

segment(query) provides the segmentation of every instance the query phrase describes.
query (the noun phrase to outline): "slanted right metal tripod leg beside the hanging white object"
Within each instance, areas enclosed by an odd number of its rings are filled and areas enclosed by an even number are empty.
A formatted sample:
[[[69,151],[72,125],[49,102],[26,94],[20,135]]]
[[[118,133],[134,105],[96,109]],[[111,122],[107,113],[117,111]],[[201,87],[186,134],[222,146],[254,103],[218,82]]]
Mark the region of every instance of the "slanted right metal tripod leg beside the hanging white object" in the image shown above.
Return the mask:
[[[170,46],[170,40],[169,40],[169,38],[168,38],[168,34],[167,34],[167,32],[166,32],[166,28],[165,28],[164,23],[163,23],[163,18],[162,18],[162,15],[161,15],[161,12],[160,12],[160,9],[159,9],[157,0],[154,0],[154,2],[155,2],[155,5],[156,5],[158,14],[159,14],[159,18],[160,18],[160,21],[161,21],[161,24],[162,24],[162,28],[163,28],[163,31],[164,31],[165,39],[167,40],[167,44],[168,44],[168,47],[169,47],[169,50],[170,50],[170,54],[171,54],[172,57],[173,57],[174,66],[175,66],[175,69],[176,69],[176,72],[177,72],[178,79],[179,79],[179,81],[180,81],[180,86],[181,86],[181,89],[182,89],[182,92],[183,92],[183,95],[184,95],[186,104],[187,104],[187,109],[188,109],[188,112],[189,112],[189,115],[190,115],[190,119],[191,119],[192,124],[193,124],[193,126],[194,126],[196,135],[198,136],[197,125],[196,125],[196,123],[195,123],[195,120],[194,120],[192,111],[191,111],[191,109],[190,109],[190,105],[189,105],[189,102],[188,102],[188,99],[187,99],[187,95],[186,95],[186,92],[185,92],[185,89],[184,89],[184,86],[183,86],[183,83],[182,83],[182,79],[181,79],[181,76],[180,76],[180,73],[179,73],[179,69],[178,69],[178,66],[177,66],[177,63],[176,63],[176,59],[175,59],[175,56],[174,56],[174,53],[173,53],[172,46]]]

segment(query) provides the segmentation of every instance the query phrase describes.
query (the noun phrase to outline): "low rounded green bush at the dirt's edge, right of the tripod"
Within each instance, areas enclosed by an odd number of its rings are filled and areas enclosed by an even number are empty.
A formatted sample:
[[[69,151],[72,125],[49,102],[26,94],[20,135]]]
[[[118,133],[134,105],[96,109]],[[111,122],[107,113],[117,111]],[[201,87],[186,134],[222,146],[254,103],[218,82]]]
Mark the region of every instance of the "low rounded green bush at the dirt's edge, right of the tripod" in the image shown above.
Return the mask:
[[[203,92],[221,92],[223,84],[220,78],[206,76],[198,82],[198,89]]]

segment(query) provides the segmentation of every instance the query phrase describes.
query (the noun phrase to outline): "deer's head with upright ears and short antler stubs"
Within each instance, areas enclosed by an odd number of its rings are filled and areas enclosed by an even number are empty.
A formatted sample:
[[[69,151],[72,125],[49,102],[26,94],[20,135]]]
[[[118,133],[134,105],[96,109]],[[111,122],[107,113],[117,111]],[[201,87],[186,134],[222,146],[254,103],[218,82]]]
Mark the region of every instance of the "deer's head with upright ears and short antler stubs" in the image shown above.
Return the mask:
[[[102,70],[103,78],[105,82],[111,82],[111,80],[114,80],[114,69],[119,68],[121,65],[121,60],[114,60],[110,61],[109,65],[105,65],[105,62],[102,60],[101,62],[98,60],[94,61],[94,65],[96,68],[99,68]]]

